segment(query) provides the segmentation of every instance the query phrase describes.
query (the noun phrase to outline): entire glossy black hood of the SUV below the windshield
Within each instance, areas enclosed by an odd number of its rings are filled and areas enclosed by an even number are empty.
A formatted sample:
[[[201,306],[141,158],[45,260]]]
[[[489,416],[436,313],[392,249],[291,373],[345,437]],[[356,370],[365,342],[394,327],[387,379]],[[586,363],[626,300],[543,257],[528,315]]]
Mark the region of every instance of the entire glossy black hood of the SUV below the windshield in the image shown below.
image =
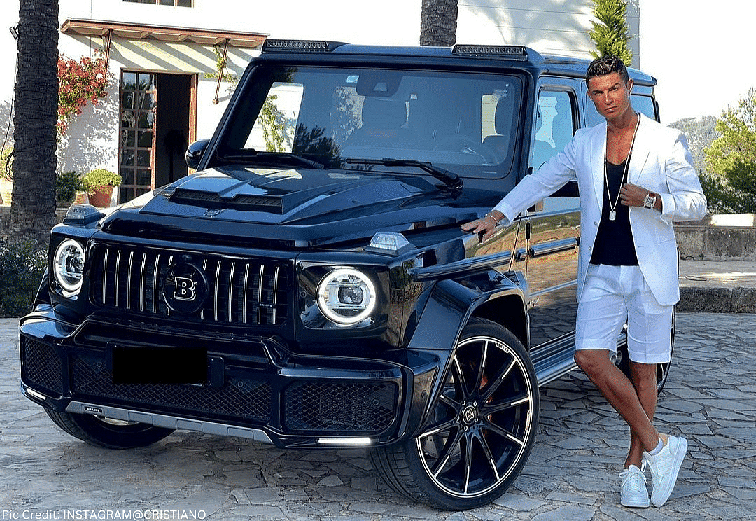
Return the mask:
[[[457,206],[455,197],[436,183],[420,173],[215,168],[182,178],[144,203],[126,204],[103,228],[129,235],[269,237],[302,246],[343,242],[418,222],[456,222],[461,216],[450,212],[460,209],[449,207]]]

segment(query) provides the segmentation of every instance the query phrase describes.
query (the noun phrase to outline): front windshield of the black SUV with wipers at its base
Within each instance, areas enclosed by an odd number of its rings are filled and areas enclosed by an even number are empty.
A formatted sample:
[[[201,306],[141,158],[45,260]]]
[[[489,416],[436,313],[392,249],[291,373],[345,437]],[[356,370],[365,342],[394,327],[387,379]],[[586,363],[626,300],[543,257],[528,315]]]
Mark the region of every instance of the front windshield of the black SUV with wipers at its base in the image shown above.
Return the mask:
[[[517,76],[261,66],[246,82],[218,159],[297,154],[332,168],[376,169],[355,159],[391,158],[502,178],[521,97]]]

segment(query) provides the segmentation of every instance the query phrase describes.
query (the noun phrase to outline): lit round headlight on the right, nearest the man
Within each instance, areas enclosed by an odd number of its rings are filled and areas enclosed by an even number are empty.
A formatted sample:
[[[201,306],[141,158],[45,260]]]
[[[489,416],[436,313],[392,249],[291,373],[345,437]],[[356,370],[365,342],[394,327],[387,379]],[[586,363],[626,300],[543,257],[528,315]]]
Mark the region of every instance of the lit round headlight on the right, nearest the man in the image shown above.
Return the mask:
[[[318,284],[318,307],[330,321],[357,324],[376,304],[376,290],[367,275],[352,268],[337,268]]]

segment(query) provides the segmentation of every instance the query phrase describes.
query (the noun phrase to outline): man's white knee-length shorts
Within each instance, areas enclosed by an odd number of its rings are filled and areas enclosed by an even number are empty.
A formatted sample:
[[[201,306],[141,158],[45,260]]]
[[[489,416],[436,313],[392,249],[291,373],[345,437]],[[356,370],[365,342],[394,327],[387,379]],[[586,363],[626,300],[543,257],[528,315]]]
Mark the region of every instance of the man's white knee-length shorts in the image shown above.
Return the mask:
[[[616,352],[627,321],[632,361],[663,364],[671,358],[673,305],[660,305],[638,266],[589,265],[578,302],[576,349]]]

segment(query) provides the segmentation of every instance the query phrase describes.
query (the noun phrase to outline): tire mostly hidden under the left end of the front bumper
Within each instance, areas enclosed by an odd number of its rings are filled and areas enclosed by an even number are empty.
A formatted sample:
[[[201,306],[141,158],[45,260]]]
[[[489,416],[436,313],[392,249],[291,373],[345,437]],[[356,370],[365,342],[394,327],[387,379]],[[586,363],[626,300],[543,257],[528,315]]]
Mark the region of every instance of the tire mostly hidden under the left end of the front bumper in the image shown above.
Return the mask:
[[[169,436],[173,430],[147,425],[147,423],[110,420],[91,414],[45,412],[61,429],[89,445],[104,448],[137,448],[152,445]]]

